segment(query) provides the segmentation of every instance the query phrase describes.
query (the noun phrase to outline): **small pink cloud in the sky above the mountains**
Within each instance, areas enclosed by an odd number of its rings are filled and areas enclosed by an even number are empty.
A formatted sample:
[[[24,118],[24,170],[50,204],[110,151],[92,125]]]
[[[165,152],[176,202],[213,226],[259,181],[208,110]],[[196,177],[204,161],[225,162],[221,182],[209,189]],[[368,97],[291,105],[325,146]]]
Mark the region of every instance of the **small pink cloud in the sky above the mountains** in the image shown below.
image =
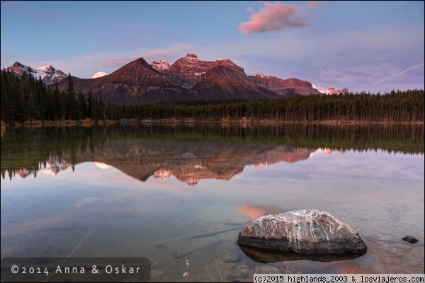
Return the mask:
[[[295,6],[282,3],[264,2],[264,7],[258,13],[249,7],[251,21],[239,25],[239,30],[245,35],[252,33],[266,33],[268,31],[285,30],[287,28],[306,28],[314,20],[310,14],[312,8],[322,8],[325,4],[310,1],[304,6]]]

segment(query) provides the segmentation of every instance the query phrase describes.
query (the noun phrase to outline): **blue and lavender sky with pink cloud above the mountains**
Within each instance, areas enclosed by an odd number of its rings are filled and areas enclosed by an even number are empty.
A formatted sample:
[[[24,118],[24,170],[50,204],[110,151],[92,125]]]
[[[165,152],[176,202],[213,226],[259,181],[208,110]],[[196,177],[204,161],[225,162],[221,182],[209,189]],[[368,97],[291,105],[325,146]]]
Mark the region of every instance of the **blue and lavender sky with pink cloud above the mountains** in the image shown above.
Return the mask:
[[[1,68],[83,79],[193,53],[322,91],[424,89],[424,42],[424,1],[1,1]]]

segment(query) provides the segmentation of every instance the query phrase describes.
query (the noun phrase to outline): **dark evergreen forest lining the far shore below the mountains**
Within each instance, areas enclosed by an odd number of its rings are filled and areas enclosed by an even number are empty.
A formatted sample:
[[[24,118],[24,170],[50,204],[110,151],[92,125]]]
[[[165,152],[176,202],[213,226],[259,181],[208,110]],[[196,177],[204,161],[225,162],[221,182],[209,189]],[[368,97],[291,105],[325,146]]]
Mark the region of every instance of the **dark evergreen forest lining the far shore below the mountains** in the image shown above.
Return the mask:
[[[1,72],[1,121],[192,120],[306,122],[424,122],[424,90],[385,94],[356,93],[296,96],[273,100],[112,104],[74,89],[45,86],[31,74],[21,78]]]

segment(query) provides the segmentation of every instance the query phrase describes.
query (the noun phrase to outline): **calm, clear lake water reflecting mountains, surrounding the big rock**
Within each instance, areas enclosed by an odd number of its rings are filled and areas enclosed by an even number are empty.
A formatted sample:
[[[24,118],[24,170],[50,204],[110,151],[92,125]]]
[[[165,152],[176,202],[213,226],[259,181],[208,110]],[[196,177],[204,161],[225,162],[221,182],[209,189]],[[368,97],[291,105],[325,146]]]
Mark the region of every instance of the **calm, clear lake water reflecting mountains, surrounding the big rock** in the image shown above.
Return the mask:
[[[424,125],[7,129],[1,175],[1,258],[145,257],[154,282],[424,272]],[[261,262],[237,245],[249,221],[308,208],[367,253]]]

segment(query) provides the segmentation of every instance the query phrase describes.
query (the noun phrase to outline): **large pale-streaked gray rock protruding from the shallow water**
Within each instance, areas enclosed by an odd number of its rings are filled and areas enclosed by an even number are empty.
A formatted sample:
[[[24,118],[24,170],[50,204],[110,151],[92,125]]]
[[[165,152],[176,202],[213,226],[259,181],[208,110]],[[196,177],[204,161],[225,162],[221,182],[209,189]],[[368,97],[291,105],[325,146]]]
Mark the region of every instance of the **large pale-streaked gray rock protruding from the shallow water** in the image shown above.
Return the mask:
[[[316,209],[262,216],[242,229],[237,243],[305,254],[364,253],[368,249],[354,229]]]

